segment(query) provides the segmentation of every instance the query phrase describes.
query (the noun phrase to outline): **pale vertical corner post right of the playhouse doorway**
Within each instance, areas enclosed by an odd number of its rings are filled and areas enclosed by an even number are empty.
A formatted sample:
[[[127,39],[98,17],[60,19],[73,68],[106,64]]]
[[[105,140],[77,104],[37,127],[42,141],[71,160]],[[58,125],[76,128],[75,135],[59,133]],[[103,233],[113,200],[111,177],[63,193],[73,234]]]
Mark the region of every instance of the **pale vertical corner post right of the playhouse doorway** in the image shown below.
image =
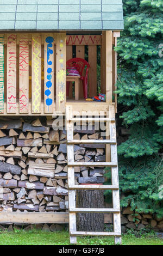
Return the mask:
[[[112,103],[112,31],[106,31],[106,102]]]

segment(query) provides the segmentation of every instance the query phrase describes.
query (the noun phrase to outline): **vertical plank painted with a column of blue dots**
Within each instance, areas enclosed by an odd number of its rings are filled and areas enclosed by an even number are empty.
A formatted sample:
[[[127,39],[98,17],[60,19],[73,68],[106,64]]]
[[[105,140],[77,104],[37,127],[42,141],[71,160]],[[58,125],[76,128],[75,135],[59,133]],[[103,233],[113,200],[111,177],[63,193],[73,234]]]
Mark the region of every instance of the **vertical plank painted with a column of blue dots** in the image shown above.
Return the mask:
[[[44,42],[44,111],[54,111],[54,35],[45,34]]]

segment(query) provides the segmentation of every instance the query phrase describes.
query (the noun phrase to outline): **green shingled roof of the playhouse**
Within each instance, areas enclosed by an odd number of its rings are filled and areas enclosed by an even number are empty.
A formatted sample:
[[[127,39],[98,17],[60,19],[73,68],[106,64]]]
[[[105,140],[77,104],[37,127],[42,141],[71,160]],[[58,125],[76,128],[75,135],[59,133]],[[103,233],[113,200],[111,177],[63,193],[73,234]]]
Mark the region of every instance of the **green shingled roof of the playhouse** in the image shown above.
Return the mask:
[[[122,0],[0,0],[0,30],[121,30]]]

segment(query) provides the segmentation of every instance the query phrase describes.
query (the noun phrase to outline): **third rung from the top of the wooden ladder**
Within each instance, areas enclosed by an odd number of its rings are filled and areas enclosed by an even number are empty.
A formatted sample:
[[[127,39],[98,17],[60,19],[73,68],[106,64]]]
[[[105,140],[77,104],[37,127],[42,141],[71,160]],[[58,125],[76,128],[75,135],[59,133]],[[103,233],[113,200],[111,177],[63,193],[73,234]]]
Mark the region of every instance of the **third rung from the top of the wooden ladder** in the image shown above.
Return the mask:
[[[69,167],[76,167],[76,166],[110,166],[110,167],[117,167],[118,163],[114,162],[68,162],[67,166]]]

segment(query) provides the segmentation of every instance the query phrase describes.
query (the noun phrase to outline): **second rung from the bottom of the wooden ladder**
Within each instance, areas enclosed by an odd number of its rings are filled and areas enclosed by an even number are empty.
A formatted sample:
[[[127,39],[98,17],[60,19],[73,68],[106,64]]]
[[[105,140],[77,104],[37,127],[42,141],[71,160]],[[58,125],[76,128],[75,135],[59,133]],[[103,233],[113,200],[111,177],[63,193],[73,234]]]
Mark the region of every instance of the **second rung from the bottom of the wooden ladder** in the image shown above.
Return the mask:
[[[74,209],[69,209],[69,211],[72,212],[110,212],[110,214],[119,214],[120,210],[118,209],[112,209],[112,208],[99,208],[99,209],[95,209],[95,208],[74,208]]]

